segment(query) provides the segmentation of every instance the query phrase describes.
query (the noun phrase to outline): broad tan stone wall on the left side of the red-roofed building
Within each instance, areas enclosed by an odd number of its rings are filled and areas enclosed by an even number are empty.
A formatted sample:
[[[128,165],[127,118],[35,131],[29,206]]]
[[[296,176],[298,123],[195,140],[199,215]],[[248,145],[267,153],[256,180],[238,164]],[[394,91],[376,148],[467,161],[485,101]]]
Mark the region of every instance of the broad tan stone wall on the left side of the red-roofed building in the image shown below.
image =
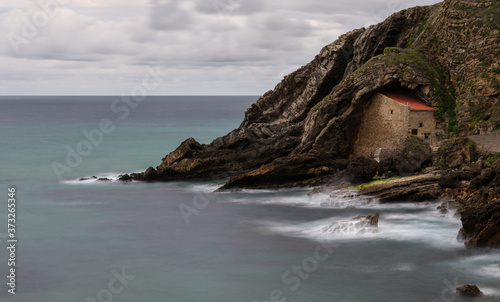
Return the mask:
[[[353,157],[375,158],[379,149],[395,150],[408,137],[410,107],[377,93],[363,115]]]

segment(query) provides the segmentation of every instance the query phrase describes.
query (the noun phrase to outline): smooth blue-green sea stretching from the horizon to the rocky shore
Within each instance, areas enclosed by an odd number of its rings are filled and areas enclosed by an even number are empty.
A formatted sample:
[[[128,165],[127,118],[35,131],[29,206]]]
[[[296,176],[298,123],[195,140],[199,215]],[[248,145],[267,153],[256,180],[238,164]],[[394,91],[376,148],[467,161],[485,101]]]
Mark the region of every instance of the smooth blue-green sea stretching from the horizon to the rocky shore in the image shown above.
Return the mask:
[[[469,301],[463,284],[500,301],[499,251],[465,248],[439,202],[117,181],[255,100],[0,97],[0,301]],[[352,220],[373,213],[378,228]]]

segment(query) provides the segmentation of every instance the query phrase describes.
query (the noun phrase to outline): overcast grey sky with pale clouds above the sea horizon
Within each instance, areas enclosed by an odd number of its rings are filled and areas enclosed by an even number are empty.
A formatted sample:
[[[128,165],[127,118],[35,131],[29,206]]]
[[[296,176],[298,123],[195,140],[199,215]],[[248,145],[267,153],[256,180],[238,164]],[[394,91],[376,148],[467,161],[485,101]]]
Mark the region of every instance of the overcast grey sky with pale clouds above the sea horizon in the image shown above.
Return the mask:
[[[0,95],[129,94],[148,66],[152,95],[261,95],[339,35],[437,2],[2,1]]]

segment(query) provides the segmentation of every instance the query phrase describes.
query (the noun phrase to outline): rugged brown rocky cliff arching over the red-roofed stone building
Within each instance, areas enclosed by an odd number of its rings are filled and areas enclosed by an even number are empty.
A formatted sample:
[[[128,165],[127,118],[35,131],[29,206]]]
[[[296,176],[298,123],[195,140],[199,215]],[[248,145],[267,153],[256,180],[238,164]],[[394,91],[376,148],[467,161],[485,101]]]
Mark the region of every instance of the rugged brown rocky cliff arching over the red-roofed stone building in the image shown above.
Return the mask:
[[[449,0],[346,33],[252,104],[237,129],[209,145],[188,139],[132,177],[323,183],[347,167],[364,108],[387,89],[432,100],[441,138],[500,129],[499,5]]]

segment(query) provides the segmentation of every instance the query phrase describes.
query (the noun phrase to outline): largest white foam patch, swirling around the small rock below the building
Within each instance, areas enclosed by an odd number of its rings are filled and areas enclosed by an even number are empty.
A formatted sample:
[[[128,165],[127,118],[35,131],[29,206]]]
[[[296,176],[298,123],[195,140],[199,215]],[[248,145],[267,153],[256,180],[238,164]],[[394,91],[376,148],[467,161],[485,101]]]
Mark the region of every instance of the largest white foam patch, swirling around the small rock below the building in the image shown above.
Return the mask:
[[[264,233],[303,237],[314,240],[373,240],[388,239],[422,242],[443,248],[463,248],[457,241],[461,228],[459,219],[453,213],[441,214],[436,209],[439,203],[381,203],[366,196],[357,195],[354,190],[339,190],[329,194],[296,194],[292,196],[244,196],[232,198],[231,202],[278,204],[300,207],[339,209],[341,217],[297,222],[259,221],[258,230]],[[348,211],[343,211],[348,209]],[[380,214],[378,228],[364,221],[352,220],[359,214]],[[370,212],[367,213],[367,210]]]

